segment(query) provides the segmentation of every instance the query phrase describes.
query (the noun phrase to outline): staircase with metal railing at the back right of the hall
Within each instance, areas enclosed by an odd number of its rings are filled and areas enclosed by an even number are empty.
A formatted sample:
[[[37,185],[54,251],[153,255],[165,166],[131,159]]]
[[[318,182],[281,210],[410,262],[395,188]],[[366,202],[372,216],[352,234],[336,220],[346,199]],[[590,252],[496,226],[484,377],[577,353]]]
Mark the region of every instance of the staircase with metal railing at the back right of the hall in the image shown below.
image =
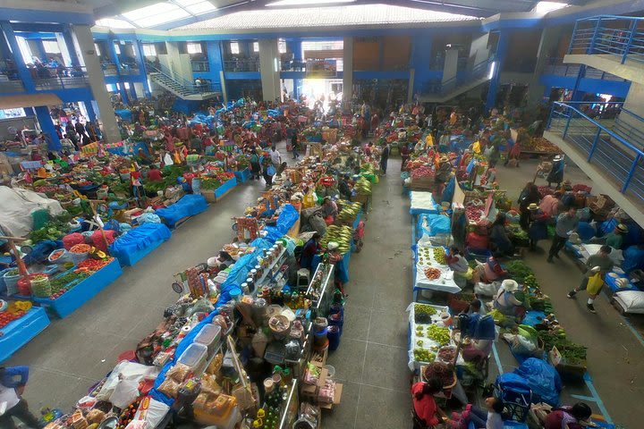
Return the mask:
[[[496,63],[494,57],[475,64],[470,71],[450,80],[429,82],[428,92],[418,96],[421,103],[445,103],[453,97],[476,88],[491,79]]]

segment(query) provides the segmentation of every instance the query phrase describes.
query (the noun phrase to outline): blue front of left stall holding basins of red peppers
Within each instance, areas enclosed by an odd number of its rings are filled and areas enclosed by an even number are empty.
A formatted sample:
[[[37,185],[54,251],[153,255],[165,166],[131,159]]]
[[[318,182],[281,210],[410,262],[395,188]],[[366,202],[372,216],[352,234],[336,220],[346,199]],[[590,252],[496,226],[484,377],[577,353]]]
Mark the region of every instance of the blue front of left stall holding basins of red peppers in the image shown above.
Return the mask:
[[[33,298],[33,300],[58,317],[64,318],[71,315],[89,299],[94,298],[98,292],[114,282],[122,273],[121,265],[119,265],[117,259],[114,259],[111,263],[72,287],[72,289],[67,290],[60,297],[56,299]]]

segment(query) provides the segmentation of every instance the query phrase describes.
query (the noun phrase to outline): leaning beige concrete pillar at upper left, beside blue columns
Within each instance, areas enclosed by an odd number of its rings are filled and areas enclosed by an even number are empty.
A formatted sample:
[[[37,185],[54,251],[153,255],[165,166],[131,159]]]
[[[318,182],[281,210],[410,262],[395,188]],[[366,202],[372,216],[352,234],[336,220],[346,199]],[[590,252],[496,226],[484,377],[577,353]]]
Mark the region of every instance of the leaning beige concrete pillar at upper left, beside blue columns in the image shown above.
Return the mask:
[[[116,123],[114,108],[107,92],[105,80],[103,79],[103,70],[100,66],[100,60],[94,50],[94,38],[92,38],[89,25],[74,25],[73,32],[80,45],[80,53],[83,55],[87,75],[89,79],[89,88],[91,88],[94,99],[97,102],[98,114],[103,124],[102,134],[107,143],[116,143],[121,141],[121,132]],[[89,54],[93,52],[93,54]]]

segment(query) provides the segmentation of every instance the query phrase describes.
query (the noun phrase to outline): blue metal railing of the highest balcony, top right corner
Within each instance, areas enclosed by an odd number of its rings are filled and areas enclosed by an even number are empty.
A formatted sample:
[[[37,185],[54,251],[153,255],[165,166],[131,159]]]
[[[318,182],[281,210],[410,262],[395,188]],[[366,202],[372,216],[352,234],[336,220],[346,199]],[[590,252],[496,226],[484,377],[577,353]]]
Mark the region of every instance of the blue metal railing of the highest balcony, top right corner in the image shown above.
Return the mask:
[[[575,22],[568,54],[614,55],[644,63],[644,18],[602,15]]]

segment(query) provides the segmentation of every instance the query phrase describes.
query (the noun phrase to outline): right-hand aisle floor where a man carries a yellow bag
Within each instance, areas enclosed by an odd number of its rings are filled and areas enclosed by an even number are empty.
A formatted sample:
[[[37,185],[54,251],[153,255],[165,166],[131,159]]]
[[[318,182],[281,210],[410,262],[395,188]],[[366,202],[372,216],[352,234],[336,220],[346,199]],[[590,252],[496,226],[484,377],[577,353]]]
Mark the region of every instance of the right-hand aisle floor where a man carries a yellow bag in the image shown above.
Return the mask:
[[[497,179],[501,189],[508,190],[513,202],[518,198],[521,187],[532,180],[535,169],[534,162],[521,163],[517,169],[498,168]],[[566,167],[565,178],[572,183],[593,185],[574,166]],[[543,185],[544,181],[540,179],[537,184]],[[644,344],[624,324],[623,318],[606,296],[595,301],[596,315],[586,309],[587,295],[580,294],[578,299],[565,298],[567,291],[580,283],[582,275],[567,255],[555,260],[555,264],[547,264],[549,246],[549,241],[540,241],[537,251],[529,252],[525,257],[526,263],[535,271],[541,289],[552,298],[555,313],[572,341],[588,347],[589,374],[609,415],[615,423],[624,427],[641,427],[640,416],[633,410],[641,407],[641,398],[644,397],[644,382],[640,376],[644,374],[644,360],[641,358],[644,356]],[[498,347],[504,345],[499,344]],[[578,390],[578,386],[568,385],[564,391],[577,393],[575,390]],[[597,406],[589,405],[598,411]]]

